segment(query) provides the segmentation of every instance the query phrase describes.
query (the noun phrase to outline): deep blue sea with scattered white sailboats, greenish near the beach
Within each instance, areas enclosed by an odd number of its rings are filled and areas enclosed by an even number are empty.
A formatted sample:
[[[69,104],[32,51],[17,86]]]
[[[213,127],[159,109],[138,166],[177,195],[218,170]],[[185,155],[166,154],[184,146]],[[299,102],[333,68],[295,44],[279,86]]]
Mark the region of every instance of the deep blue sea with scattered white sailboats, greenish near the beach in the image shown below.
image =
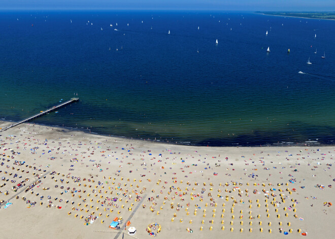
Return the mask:
[[[1,11],[0,29],[0,120],[79,97],[31,123],[182,145],[335,144],[333,20]]]

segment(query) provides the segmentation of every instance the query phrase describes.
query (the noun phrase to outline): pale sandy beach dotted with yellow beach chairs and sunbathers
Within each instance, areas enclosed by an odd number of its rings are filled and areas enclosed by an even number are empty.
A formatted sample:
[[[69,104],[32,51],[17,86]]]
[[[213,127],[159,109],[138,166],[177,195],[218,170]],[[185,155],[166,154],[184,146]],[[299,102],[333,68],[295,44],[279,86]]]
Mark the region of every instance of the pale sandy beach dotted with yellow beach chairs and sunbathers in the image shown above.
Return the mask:
[[[333,237],[331,146],[194,147],[33,124],[0,135],[2,238]]]

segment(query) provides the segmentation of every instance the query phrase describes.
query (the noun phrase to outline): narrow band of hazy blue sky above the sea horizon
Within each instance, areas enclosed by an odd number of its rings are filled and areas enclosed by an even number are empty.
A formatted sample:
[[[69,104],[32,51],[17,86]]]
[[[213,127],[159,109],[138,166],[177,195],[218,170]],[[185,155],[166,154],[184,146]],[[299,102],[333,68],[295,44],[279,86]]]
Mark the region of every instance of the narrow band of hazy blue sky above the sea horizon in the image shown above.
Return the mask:
[[[0,0],[0,9],[335,11],[335,0]]]

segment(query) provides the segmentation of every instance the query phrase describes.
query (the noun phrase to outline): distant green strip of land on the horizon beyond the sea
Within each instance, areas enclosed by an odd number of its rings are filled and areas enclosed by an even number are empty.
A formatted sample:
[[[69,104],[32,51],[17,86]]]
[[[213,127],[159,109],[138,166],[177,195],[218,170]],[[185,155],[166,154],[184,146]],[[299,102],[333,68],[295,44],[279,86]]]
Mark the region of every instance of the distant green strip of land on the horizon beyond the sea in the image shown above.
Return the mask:
[[[285,17],[304,17],[318,19],[333,19],[335,20],[335,12],[255,12],[265,15],[285,16]]]

